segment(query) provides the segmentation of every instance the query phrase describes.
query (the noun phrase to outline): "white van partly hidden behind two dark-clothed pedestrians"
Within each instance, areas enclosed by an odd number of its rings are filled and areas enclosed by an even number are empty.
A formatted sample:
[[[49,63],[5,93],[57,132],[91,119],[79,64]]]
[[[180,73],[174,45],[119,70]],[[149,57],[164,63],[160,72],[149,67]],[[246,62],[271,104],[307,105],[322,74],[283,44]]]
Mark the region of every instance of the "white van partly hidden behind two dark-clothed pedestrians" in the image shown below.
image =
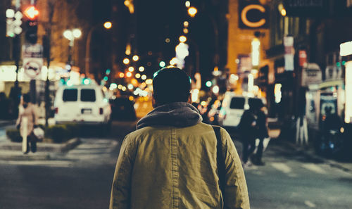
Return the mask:
[[[248,110],[258,100],[266,104],[263,98],[240,96],[231,91],[226,92],[219,113],[219,124],[223,127],[237,127],[244,110]]]

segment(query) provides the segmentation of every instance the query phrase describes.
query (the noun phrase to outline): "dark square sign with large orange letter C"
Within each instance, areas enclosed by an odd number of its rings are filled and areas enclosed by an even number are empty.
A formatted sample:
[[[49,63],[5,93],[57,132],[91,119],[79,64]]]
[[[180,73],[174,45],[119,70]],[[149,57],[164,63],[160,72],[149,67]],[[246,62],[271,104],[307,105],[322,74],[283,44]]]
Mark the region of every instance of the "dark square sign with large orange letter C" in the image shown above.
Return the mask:
[[[239,1],[239,28],[268,28],[268,19],[268,8],[261,5],[259,1]]]

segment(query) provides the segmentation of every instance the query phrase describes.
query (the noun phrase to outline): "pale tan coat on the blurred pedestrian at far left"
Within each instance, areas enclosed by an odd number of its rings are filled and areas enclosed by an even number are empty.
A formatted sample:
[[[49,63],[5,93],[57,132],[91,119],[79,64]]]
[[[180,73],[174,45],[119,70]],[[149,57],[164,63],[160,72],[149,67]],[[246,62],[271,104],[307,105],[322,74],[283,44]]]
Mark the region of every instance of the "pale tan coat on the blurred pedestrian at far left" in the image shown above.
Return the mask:
[[[18,119],[16,125],[20,125],[20,134],[22,137],[25,136],[25,125],[23,118],[27,118],[27,136],[29,136],[34,128],[34,125],[37,125],[37,109],[34,104],[28,103],[27,108],[20,106]]]

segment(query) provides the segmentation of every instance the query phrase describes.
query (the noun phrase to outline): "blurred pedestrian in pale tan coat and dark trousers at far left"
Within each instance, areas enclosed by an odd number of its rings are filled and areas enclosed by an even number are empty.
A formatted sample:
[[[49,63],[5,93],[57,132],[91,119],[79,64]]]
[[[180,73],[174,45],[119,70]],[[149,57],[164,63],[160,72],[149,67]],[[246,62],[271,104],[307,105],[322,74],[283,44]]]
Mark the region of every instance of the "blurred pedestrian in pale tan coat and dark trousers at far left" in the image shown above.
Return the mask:
[[[23,94],[18,111],[16,126],[20,129],[21,137],[27,138],[24,153],[26,154],[30,150],[35,153],[37,151],[37,137],[34,136],[33,129],[37,127],[37,110],[30,102],[30,94]]]

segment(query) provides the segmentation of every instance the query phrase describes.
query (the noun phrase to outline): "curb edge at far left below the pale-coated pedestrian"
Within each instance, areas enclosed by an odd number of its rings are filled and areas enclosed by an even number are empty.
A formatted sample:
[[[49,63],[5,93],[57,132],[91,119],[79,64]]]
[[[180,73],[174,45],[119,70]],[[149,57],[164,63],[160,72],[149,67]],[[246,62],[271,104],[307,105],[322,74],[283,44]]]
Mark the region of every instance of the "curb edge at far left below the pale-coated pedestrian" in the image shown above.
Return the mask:
[[[22,143],[4,142],[0,144],[0,160],[50,160],[52,153],[65,153],[75,148],[81,141],[73,138],[65,144],[38,143],[36,153],[22,153]]]

